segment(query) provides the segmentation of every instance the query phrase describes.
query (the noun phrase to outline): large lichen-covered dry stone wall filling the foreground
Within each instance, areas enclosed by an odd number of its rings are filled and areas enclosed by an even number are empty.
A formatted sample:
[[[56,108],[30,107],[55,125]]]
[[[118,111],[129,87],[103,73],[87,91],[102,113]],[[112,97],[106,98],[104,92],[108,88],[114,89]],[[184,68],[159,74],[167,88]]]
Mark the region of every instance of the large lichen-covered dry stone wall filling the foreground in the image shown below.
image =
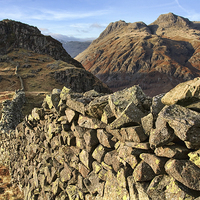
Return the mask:
[[[199,102],[199,78],[153,98],[54,89],[4,148],[12,180],[31,200],[199,200]]]

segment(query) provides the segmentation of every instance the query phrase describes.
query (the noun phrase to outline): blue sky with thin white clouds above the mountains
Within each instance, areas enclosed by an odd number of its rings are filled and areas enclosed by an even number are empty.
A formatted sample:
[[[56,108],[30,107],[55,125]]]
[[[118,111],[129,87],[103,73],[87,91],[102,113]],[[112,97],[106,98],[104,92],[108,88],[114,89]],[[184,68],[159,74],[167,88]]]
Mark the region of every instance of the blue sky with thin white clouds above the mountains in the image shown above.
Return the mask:
[[[110,22],[143,21],[173,12],[200,21],[200,0],[0,0],[0,20],[37,26],[63,39],[97,38]]]

